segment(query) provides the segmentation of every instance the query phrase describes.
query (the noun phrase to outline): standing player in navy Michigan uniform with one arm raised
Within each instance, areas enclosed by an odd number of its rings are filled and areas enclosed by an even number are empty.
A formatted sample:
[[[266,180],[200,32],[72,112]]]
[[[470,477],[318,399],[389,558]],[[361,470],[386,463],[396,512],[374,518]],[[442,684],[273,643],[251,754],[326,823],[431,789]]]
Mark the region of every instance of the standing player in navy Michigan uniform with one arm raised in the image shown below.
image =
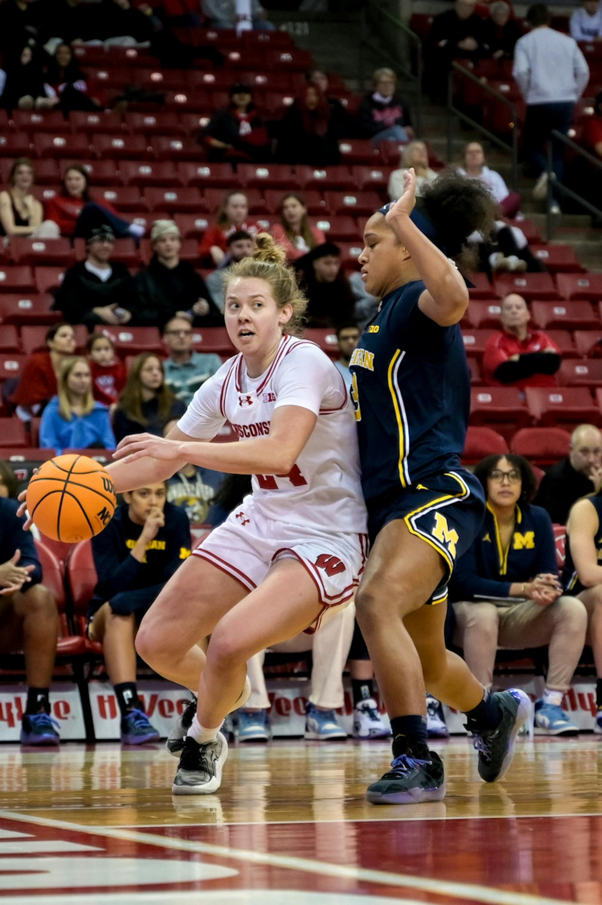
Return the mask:
[[[522,691],[490,694],[444,645],[447,582],[484,513],[481,485],[460,465],[470,375],[458,324],[468,291],[452,259],[474,230],[488,233],[493,202],[477,180],[444,176],[418,204],[406,170],[402,197],[366,224],[358,260],[382,301],[350,361],[372,544],[356,605],[394,757],[367,797],[387,805],[445,794],[427,744],[425,685],[466,714],[486,782],[510,767],[530,710]]]

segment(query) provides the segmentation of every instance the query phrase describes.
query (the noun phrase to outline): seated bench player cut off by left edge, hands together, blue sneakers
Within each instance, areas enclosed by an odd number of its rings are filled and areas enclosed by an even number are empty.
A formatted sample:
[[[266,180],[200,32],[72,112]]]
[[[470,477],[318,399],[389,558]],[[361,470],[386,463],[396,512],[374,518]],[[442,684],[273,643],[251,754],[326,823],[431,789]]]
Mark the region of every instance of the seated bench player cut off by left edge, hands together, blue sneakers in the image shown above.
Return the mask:
[[[31,531],[16,514],[17,500],[0,494],[0,651],[24,651],[27,703],[22,745],[58,745],[58,723],[51,719],[50,684],[59,634],[51,592],[42,584],[42,567]]]

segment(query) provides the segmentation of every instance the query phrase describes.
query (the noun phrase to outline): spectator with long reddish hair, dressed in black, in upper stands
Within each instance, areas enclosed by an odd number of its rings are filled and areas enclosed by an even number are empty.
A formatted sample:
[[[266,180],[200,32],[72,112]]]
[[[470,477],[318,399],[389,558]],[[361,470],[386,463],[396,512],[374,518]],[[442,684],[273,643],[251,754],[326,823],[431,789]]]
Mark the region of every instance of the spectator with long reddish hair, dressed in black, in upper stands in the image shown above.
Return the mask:
[[[330,104],[317,85],[305,85],[280,124],[276,156],[283,163],[330,167],[339,163]]]

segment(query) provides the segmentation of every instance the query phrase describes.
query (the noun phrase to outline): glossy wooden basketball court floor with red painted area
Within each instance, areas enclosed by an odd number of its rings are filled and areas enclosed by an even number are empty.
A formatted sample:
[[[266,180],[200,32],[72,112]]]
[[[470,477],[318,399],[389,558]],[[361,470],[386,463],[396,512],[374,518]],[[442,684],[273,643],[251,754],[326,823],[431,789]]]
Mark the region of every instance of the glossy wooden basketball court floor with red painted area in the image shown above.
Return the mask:
[[[384,742],[231,746],[218,795],[173,797],[162,746],[0,748],[0,899],[19,905],[602,902],[602,738],[520,740],[486,786],[434,746],[447,797],[368,805]]]

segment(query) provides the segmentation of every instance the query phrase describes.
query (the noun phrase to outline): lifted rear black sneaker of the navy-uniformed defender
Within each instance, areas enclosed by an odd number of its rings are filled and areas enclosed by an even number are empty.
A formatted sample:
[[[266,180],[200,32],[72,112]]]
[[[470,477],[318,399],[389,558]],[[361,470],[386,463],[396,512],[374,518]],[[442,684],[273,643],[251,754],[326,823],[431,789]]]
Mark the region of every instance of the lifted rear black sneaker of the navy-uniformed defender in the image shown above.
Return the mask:
[[[473,748],[479,752],[479,776],[486,783],[501,779],[512,763],[514,743],[525,719],[530,714],[530,699],[518,688],[496,691],[493,695],[502,710],[502,722],[497,729],[473,732]]]

